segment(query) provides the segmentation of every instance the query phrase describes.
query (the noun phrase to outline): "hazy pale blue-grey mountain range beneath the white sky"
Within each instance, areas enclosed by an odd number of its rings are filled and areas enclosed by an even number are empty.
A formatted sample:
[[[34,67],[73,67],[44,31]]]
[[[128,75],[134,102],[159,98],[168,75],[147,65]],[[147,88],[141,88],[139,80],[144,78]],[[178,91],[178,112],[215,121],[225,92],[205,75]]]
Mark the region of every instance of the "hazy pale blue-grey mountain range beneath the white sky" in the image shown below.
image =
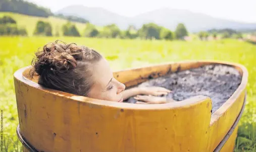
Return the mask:
[[[130,18],[120,16],[102,8],[88,8],[84,6],[69,6],[59,10],[57,13],[82,17],[98,26],[115,23],[121,29],[126,29],[129,25],[134,25],[136,28],[140,28],[143,24],[148,22],[156,23],[171,30],[174,30],[178,23],[184,23],[190,32],[222,28],[232,28],[236,30],[256,29],[256,23],[240,23],[193,13],[187,10],[174,10],[168,8],[161,8]]]

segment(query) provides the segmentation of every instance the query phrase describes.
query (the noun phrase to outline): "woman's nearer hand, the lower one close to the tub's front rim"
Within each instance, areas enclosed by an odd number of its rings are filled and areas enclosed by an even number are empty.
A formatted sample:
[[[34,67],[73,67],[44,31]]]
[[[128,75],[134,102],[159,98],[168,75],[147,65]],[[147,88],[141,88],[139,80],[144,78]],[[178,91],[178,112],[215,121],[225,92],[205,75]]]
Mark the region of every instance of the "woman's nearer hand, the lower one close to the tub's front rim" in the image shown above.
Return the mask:
[[[136,104],[164,104],[167,103],[166,97],[156,96],[140,96],[137,95],[134,99],[138,100]]]

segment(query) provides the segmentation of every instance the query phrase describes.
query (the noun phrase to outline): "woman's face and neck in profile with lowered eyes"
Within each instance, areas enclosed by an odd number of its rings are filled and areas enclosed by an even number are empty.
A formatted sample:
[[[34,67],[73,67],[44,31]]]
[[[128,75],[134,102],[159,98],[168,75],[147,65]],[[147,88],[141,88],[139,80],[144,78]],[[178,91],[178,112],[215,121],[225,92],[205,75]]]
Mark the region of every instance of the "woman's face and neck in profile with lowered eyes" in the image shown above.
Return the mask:
[[[93,64],[92,80],[94,84],[87,97],[123,102],[122,91],[125,90],[125,85],[113,77],[113,72],[105,58]]]

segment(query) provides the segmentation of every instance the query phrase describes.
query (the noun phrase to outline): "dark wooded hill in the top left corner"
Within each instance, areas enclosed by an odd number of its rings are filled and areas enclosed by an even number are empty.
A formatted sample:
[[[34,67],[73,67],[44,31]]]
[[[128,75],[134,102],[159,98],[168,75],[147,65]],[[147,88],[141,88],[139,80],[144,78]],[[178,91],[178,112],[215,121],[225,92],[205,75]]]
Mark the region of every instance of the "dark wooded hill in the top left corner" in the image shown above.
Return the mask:
[[[0,12],[13,12],[30,16],[48,17],[53,13],[46,8],[38,7],[37,5],[23,0],[1,0]]]

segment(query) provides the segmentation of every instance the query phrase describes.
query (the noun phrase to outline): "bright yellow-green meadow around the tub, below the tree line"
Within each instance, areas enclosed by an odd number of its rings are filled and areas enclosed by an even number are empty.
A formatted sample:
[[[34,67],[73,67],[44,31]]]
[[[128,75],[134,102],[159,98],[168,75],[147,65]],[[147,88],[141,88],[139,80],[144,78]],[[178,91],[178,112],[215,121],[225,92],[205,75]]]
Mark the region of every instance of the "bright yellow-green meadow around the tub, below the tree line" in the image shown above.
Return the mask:
[[[18,114],[13,73],[21,67],[30,65],[34,52],[39,47],[57,39],[96,49],[107,57],[114,70],[200,59],[243,64],[249,72],[248,97],[246,109],[239,123],[235,151],[256,151],[256,45],[237,40],[184,42],[74,37],[0,37],[0,108],[4,110],[6,151],[21,151],[21,143],[16,136]]]

